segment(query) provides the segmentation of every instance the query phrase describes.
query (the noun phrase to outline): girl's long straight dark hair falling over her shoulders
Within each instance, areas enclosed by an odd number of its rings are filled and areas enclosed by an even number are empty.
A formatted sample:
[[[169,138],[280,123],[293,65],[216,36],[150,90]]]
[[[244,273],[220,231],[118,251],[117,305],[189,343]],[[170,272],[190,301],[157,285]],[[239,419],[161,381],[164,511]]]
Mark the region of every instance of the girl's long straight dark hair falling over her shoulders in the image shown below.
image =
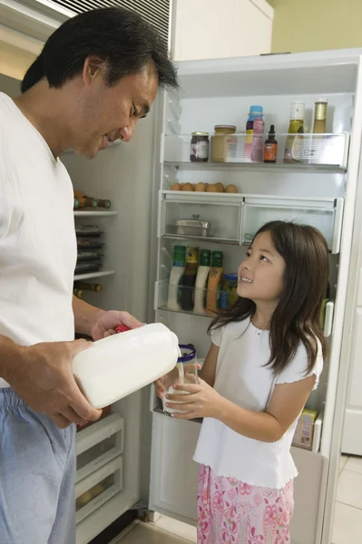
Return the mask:
[[[254,239],[261,232],[270,233],[274,247],[286,264],[284,287],[270,322],[267,365],[274,374],[280,374],[291,363],[302,342],[308,355],[308,374],[316,363],[318,340],[323,356],[327,353],[320,314],[328,289],[328,244],[317,228],[308,225],[271,221],[259,228]],[[255,310],[252,300],[238,297],[233,306],[213,320],[209,331],[253,316]]]

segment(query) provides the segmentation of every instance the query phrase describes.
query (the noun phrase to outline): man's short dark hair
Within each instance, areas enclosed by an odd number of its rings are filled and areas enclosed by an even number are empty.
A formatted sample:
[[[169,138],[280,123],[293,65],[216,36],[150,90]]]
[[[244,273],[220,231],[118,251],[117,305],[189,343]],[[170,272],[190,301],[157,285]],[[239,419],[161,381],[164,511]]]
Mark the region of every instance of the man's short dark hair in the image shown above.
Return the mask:
[[[160,86],[178,88],[167,44],[152,25],[141,15],[122,7],[106,7],[76,15],[55,30],[25,73],[22,92],[44,77],[49,87],[59,89],[82,72],[90,55],[106,63],[105,81],[110,87],[126,75],[141,72],[152,60]]]

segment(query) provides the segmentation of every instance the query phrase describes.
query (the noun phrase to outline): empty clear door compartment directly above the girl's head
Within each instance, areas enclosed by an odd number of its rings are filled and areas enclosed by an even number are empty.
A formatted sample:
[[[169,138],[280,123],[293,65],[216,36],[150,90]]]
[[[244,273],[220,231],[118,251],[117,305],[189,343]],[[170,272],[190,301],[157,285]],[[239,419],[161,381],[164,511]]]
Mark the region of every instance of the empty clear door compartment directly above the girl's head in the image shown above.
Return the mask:
[[[245,198],[242,214],[242,243],[249,244],[258,229],[269,221],[294,221],[318,228],[327,239],[330,251],[338,253],[343,205],[343,199]]]

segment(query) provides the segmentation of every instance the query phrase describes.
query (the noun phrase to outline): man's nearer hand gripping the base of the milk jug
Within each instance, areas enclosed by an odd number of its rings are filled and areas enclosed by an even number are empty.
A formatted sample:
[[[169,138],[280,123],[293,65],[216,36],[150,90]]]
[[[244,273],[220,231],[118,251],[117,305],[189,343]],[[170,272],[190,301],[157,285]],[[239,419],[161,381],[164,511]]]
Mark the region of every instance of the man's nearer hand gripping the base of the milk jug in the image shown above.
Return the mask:
[[[72,362],[85,340],[17,346],[17,356],[5,367],[5,380],[35,412],[51,417],[64,429],[71,423],[96,421],[102,411],[88,403],[76,384]]]

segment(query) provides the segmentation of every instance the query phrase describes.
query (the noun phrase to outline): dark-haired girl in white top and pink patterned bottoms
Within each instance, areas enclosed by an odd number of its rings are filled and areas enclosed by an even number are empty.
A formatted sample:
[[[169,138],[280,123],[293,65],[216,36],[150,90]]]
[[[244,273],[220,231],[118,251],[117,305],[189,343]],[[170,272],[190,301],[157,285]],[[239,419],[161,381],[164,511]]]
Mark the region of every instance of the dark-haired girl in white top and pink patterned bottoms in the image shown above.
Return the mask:
[[[173,417],[204,418],[194,456],[199,544],[290,543],[290,445],[323,367],[327,286],[328,246],[316,228],[264,225],[239,267],[240,298],[210,325],[200,383],[174,386],[190,396]],[[185,402],[166,398],[179,410],[173,402]]]

